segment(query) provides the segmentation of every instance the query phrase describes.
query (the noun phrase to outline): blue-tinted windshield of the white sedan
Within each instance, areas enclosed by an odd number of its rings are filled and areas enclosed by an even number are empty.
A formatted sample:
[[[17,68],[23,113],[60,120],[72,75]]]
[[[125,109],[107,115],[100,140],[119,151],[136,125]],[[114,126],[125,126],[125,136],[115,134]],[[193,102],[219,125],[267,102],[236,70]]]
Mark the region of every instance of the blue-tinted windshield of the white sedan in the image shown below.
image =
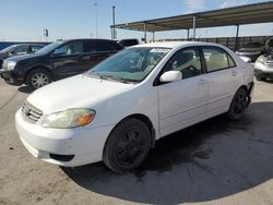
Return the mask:
[[[150,74],[169,50],[151,47],[126,49],[96,65],[86,75],[122,83],[138,83]]]

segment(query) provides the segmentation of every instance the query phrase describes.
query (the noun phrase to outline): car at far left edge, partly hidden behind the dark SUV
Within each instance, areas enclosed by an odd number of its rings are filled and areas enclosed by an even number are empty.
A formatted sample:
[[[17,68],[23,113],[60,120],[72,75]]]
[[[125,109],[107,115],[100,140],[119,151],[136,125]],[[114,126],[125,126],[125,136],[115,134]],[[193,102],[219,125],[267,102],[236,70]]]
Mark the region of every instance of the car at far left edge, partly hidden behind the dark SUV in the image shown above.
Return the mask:
[[[19,55],[33,53],[41,49],[45,45],[41,44],[17,44],[0,50],[0,69],[4,59]]]

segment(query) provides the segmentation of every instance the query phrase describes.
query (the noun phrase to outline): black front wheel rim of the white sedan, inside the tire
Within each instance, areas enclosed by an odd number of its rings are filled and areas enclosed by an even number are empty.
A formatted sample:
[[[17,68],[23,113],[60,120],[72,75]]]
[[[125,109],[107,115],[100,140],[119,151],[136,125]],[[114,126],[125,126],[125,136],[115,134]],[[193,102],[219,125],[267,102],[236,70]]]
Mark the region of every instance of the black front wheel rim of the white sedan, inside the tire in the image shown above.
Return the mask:
[[[122,167],[138,165],[145,155],[147,140],[145,133],[138,128],[124,131],[116,146],[116,158]]]

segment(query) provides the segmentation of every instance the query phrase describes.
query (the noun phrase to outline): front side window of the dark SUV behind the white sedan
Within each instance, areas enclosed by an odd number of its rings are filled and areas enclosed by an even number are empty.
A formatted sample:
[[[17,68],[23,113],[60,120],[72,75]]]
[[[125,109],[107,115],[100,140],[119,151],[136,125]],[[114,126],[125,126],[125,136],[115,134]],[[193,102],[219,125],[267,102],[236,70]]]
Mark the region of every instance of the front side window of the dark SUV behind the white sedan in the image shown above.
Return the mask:
[[[58,55],[78,55],[83,52],[83,44],[81,41],[68,43],[60,48],[57,48],[54,53]]]

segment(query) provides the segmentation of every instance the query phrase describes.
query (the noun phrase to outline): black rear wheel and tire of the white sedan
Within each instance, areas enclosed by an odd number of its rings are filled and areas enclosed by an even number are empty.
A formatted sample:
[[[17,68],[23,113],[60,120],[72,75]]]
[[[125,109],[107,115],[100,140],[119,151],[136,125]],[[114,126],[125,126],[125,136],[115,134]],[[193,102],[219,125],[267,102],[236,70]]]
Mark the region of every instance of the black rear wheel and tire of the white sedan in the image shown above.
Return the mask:
[[[227,116],[230,120],[238,120],[240,119],[248,106],[248,96],[247,92],[244,88],[239,88],[229,106]]]

